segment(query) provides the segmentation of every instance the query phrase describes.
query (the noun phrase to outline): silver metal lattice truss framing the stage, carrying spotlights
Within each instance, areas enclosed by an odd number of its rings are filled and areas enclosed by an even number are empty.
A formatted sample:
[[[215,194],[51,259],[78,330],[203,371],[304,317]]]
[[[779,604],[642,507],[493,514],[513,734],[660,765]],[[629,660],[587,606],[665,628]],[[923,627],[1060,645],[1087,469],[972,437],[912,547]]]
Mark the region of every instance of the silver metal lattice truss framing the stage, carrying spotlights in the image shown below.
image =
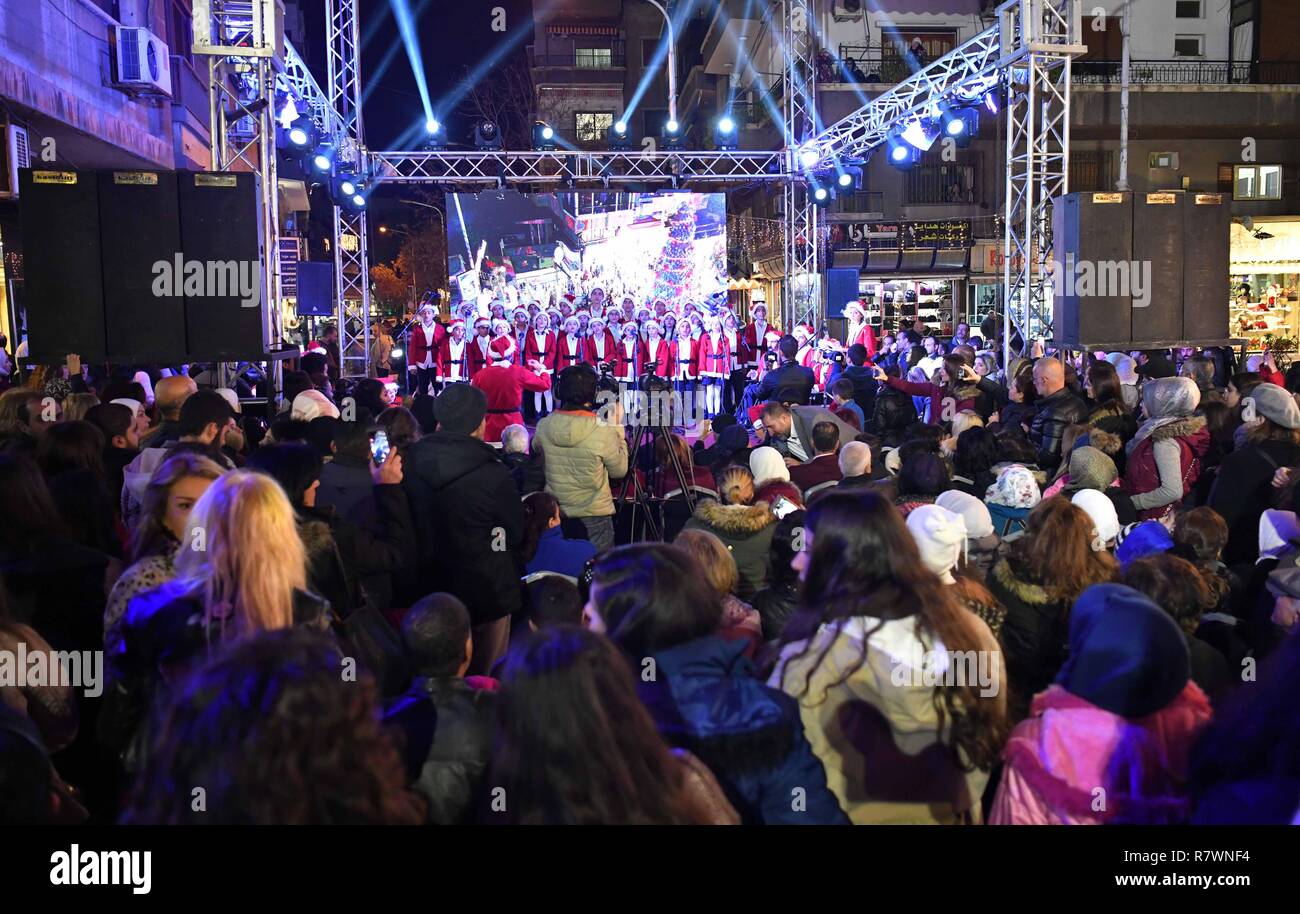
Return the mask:
[[[242,44],[200,49],[200,33],[224,34],[214,25],[222,9],[248,9],[272,0],[195,0],[195,52],[224,56],[256,86],[256,98],[269,108],[256,114],[254,135],[238,150],[256,148],[256,160],[237,151],[228,155],[225,85],[211,60],[213,163],[229,166],[242,159],[264,176],[263,212],[268,225],[266,251],[276,251],[278,212],[274,173],[274,87],[295,94],[322,134],[335,144],[335,161],[355,168],[373,182],[429,183],[454,189],[523,186],[562,189],[722,187],[779,181],[783,183],[785,222],[785,295],[781,322],[818,322],[820,308],[820,212],[807,192],[810,172],[828,163],[866,157],[897,129],[937,112],[941,101],[975,99],[1001,85],[1006,92],[1006,237],[1004,303],[1009,328],[1028,341],[1052,328],[1050,276],[1052,199],[1069,190],[1070,66],[1086,53],[1082,44],[1079,0],[1006,0],[997,23],[949,55],[914,73],[888,92],[823,127],[816,116],[816,42],[812,0],[772,0],[781,16],[785,51],[785,147],[771,152],[446,152],[382,151],[365,148],[361,124],[360,48],[358,0],[326,0],[326,90],[312,78],[302,59],[285,43],[282,60],[273,61],[254,35]],[[211,31],[200,29],[203,16]],[[264,22],[250,22],[256,31]],[[230,44],[235,44],[231,47]],[[272,70],[272,68],[277,68]],[[248,108],[248,95],[239,104]],[[218,146],[221,150],[218,150]],[[802,153],[802,155],[801,155]],[[811,156],[819,165],[802,163]],[[339,296],[339,346],[344,374],[365,374],[369,360],[369,256],[365,215],[335,208],[333,255]],[[278,302],[278,260],[266,257],[268,290]],[[278,325],[278,307],[268,320]],[[278,326],[272,338],[278,338]],[[1010,333],[1005,334],[1010,338]]]

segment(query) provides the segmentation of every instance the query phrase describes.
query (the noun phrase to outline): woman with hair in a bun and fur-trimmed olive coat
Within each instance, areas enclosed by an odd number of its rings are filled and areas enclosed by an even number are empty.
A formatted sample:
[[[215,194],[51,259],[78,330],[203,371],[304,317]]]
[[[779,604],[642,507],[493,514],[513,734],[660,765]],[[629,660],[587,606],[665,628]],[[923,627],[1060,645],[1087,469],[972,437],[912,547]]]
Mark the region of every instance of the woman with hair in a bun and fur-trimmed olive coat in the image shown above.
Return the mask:
[[[736,595],[749,599],[767,586],[767,554],[772,549],[776,515],[767,502],[754,502],[754,475],[745,467],[723,469],[718,475],[718,493],[720,502],[705,498],[696,504],[681,534],[707,530],[722,540],[736,562]]]

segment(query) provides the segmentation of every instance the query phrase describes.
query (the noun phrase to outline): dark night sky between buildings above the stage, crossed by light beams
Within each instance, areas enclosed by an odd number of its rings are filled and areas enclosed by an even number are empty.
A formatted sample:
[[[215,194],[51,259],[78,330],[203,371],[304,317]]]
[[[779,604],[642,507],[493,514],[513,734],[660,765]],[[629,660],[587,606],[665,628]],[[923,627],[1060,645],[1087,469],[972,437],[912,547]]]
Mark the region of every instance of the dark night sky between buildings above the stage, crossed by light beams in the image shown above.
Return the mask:
[[[420,0],[406,3],[412,10],[420,7]],[[398,138],[424,122],[417,83],[404,49],[398,49],[391,65],[374,81],[373,74],[385,55],[399,47],[402,38],[390,0],[359,0],[359,5],[361,35],[374,30],[369,42],[363,39],[361,48],[361,85],[369,92],[363,107],[365,143],[372,150],[398,148]],[[511,30],[532,22],[530,0],[426,0],[425,12],[417,17],[416,25],[429,95],[436,108],[439,99],[454,91],[465,66],[477,65],[504,40],[500,33],[491,30],[493,9],[498,7],[506,10],[506,25]],[[325,4],[316,0],[303,4],[303,8],[311,44],[308,61],[324,85]],[[530,25],[528,29],[529,35],[516,46],[519,55],[532,44]],[[467,142],[467,121],[451,120],[448,137],[452,143]]]

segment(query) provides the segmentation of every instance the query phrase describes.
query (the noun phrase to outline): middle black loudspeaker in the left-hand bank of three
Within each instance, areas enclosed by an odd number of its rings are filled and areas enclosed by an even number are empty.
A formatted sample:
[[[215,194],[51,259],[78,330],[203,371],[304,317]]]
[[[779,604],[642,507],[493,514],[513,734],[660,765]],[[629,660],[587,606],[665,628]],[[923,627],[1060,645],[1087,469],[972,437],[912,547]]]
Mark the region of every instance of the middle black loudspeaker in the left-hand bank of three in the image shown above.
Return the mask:
[[[108,358],[118,364],[185,358],[185,282],[176,172],[100,172]]]

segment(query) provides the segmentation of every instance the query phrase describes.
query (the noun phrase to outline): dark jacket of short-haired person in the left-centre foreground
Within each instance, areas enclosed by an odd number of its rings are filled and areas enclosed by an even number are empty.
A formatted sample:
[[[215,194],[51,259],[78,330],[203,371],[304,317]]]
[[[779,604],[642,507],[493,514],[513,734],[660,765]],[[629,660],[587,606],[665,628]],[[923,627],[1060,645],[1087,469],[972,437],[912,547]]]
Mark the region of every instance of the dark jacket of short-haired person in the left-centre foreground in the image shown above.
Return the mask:
[[[384,723],[402,736],[407,777],[429,801],[429,822],[469,822],[488,771],[497,693],[473,689],[456,677],[417,676],[389,705]]]

